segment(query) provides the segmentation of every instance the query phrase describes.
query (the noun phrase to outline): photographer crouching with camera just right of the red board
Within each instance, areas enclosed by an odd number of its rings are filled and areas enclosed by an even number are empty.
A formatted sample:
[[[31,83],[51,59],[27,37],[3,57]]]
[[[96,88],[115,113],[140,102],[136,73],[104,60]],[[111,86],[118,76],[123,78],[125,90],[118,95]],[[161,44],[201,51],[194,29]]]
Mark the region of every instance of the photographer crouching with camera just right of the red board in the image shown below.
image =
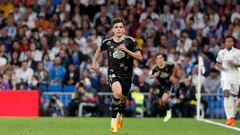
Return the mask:
[[[46,116],[64,116],[64,107],[57,95],[52,95],[50,100],[45,104],[44,112]]]

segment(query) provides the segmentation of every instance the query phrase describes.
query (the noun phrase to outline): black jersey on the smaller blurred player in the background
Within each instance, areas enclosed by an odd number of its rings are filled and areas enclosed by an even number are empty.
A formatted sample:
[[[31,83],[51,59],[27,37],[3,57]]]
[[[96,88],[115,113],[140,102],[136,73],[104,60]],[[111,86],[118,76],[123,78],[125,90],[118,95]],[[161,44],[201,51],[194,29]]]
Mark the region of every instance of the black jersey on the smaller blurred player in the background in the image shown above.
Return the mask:
[[[174,65],[167,63],[164,67],[160,68],[159,66],[155,66],[152,70],[152,74],[159,71],[159,76],[157,77],[158,83],[161,85],[169,85],[171,81],[169,78],[173,73]]]

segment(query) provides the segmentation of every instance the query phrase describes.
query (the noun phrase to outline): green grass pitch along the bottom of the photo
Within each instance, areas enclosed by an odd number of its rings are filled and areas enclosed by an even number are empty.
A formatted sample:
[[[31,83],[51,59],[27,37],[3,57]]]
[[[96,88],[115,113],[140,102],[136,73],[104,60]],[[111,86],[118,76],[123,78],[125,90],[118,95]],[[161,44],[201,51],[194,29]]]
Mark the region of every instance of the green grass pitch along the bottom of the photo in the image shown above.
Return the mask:
[[[221,121],[223,122],[223,121]],[[0,118],[0,135],[112,135],[110,118]],[[240,127],[238,121],[237,127]],[[124,118],[117,135],[239,135],[195,119]]]

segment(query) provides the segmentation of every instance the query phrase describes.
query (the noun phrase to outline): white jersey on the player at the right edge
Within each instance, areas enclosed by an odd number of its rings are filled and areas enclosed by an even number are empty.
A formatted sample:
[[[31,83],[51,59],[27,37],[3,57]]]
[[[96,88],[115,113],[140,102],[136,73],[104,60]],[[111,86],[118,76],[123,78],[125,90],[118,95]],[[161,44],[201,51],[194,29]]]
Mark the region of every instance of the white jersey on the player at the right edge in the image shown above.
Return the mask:
[[[232,60],[233,63],[240,64],[240,50],[233,47],[231,50],[225,48],[218,52],[216,61],[222,63],[224,68],[224,70],[221,71],[221,80],[240,83],[238,68],[228,64],[229,60]]]

